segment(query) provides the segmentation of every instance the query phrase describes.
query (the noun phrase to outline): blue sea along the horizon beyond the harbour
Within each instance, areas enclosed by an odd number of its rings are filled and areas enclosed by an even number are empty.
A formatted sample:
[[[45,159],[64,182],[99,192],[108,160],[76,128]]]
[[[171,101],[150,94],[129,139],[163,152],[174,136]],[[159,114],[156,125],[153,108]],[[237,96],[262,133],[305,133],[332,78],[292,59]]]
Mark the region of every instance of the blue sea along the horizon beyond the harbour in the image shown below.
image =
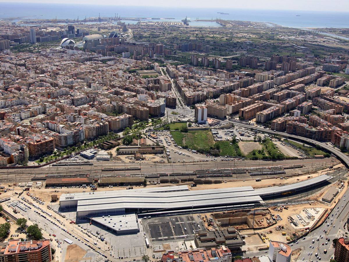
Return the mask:
[[[219,14],[220,12],[226,14]],[[143,17],[148,21],[181,21],[185,17],[191,26],[219,27],[216,22],[195,19],[225,19],[278,24],[292,28],[349,28],[349,12],[314,12],[295,10],[252,10],[233,8],[164,8],[151,6],[107,6],[66,3],[0,2],[0,19],[77,19],[85,17]],[[152,20],[151,18],[159,18]],[[173,18],[170,19],[169,18]],[[126,23],[138,21],[125,20]]]

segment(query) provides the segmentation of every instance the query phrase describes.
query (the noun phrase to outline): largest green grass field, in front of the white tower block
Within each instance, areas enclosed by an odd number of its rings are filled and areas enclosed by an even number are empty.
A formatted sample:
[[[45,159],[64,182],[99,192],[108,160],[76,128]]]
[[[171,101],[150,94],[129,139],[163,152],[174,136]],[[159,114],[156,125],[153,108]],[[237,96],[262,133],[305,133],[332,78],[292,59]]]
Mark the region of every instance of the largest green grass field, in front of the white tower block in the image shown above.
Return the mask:
[[[171,131],[174,141],[177,145],[206,152],[214,145],[214,139],[211,131],[197,130],[182,133],[180,131]]]

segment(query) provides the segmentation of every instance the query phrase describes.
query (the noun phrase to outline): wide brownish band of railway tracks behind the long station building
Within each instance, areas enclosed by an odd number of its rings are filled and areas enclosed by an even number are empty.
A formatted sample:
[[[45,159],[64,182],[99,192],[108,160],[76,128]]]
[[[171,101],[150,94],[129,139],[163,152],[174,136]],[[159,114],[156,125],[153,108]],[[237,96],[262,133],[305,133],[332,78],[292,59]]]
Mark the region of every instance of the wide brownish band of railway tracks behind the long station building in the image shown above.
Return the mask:
[[[116,162],[94,162],[94,165],[80,167],[43,167],[43,168],[20,168],[20,169],[0,169],[0,179],[6,182],[23,182],[44,177],[46,175],[59,177],[69,176],[84,176],[86,174],[94,177],[112,177],[112,176],[144,176],[146,174],[173,174],[176,177],[183,176],[183,173],[200,172],[204,169],[231,169],[231,168],[246,168],[246,167],[270,167],[270,166],[295,166],[303,165],[303,168],[298,168],[297,173],[310,173],[314,170],[324,169],[328,166],[340,163],[336,158],[328,159],[297,159],[297,160],[282,160],[282,161],[222,161],[222,162],[200,162],[200,163],[116,163]],[[286,173],[293,168],[287,169]],[[299,170],[299,171],[298,171]],[[182,174],[181,174],[182,173]],[[192,176],[192,175],[191,175]],[[233,177],[233,176],[232,176]],[[239,177],[247,177],[239,175]],[[248,176],[250,177],[250,176]],[[150,178],[150,177],[149,177]],[[154,177],[151,177],[154,178]],[[156,178],[156,177],[155,177]]]

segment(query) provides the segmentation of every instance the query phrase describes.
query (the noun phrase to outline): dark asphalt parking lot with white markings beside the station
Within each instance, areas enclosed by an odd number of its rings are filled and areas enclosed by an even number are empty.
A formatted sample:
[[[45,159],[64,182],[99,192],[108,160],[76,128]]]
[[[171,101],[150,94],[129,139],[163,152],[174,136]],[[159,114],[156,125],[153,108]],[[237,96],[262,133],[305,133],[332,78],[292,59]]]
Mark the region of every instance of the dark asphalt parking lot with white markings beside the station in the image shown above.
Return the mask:
[[[205,229],[196,214],[143,219],[143,230],[152,242],[173,242],[194,239],[194,234]]]

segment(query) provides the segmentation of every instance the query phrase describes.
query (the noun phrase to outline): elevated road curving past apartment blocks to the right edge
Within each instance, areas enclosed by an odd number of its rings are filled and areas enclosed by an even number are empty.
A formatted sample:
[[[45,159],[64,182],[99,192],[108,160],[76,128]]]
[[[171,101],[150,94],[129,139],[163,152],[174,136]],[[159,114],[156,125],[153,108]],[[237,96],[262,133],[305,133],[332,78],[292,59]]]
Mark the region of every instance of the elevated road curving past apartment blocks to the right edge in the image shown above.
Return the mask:
[[[249,128],[251,130],[258,130],[258,131],[261,131],[264,133],[274,134],[274,135],[276,134],[276,135],[279,135],[279,136],[284,137],[284,138],[292,138],[292,139],[296,139],[296,140],[302,141],[302,142],[307,143],[307,144],[320,146],[321,148],[325,149],[326,151],[331,152],[333,155],[335,155],[337,158],[339,158],[343,162],[344,165],[349,167],[349,157],[346,154],[344,154],[341,151],[337,150],[336,148],[333,148],[332,146],[329,146],[329,145],[322,143],[320,141],[316,141],[316,140],[306,138],[306,137],[296,136],[294,134],[288,134],[288,133],[284,133],[284,132],[276,132],[276,131],[272,131],[270,129],[260,128],[258,126],[244,124],[241,122],[230,121],[230,120],[228,120],[227,122],[232,123],[232,124],[237,125],[237,126],[244,127],[244,128]]]

